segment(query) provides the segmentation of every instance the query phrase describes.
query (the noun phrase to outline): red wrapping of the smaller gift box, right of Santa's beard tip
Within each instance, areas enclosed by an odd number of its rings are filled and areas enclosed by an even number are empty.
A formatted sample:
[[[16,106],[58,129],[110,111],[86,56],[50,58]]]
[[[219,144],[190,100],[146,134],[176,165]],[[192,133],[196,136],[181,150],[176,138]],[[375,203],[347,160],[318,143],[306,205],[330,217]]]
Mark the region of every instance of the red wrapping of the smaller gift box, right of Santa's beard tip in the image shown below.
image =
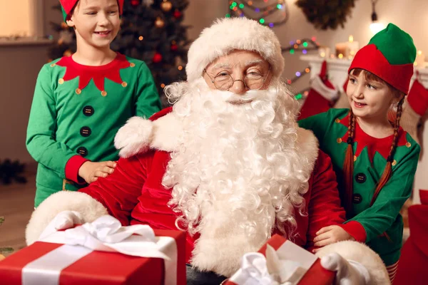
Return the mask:
[[[269,244],[275,251],[280,249],[287,242],[285,237],[282,237],[278,234],[272,236],[265,245],[258,251],[261,254],[265,255],[267,244]],[[297,246],[295,246],[297,247]],[[305,249],[302,249],[305,250]],[[308,252],[309,253],[309,252]],[[321,266],[320,259],[316,259],[314,264],[310,266],[310,269],[306,272],[306,274],[300,279],[298,285],[331,285],[335,280],[335,272],[325,269]],[[231,277],[233,279],[233,277]],[[237,285],[233,281],[225,281],[224,285]]]

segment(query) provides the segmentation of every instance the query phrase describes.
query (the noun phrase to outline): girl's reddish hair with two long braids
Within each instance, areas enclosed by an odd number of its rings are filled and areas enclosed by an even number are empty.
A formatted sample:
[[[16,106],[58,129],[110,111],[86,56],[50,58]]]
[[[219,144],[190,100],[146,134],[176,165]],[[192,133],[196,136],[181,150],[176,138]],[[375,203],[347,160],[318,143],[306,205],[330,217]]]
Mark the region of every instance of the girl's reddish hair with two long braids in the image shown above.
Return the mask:
[[[374,190],[374,195],[372,197],[372,201],[370,202],[370,205],[374,203],[374,200],[376,200],[377,195],[379,195],[380,190],[382,190],[382,187],[384,187],[385,184],[387,184],[389,177],[391,177],[392,173],[392,161],[394,160],[394,152],[395,147],[397,147],[397,140],[398,140],[398,132],[399,132],[399,120],[402,115],[403,110],[403,103],[404,103],[404,93],[397,90],[396,88],[390,86],[387,82],[383,81],[381,78],[375,76],[373,73],[370,73],[368,71],[364,71],[360,68],[355,68],[352,71],[352,75],[359,76],[360,73],[363,72],[363,76],[365,80],[367,81],[376,81],[380,83],[384,83],[388,86],[389,90],[394,93],[397,98],[402,97],[398,104],[397,104],[397,114],[395,115],[395,121],[393,123],[394,126],[394,139],[392,140],[391,150],[389,150],[389,155],[387,157],[387,165],[384,168],[384,172],[382,176],[380,177],[379,181],[376,185],[376,190]],[[343,170],[344,170],[344,182],[345,182],[345,202],[344,207],[347,212],[347,215],[350,217],[352,215],[352,184],[353,184],[353,172],[354,172],[354,152],[353,152],[353,144],[354,144],[354,137],[355,137],[355,115],[352,113],[352,108],[350,109],[350,124],[348,126],[348,138],[347,138],[347,150],[345,155],[345,161],[343,162]]]

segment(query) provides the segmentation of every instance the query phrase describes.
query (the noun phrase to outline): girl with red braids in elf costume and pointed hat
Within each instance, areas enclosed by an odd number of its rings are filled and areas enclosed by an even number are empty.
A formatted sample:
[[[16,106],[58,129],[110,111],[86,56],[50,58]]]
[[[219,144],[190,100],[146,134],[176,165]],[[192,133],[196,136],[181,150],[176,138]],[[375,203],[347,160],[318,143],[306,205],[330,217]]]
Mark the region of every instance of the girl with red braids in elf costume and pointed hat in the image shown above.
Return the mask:
[[[317,232],[317,247],[340,240],[365,242],[394,279],[402,247],[399,214],[412,192],[419,145],[400,126],[416,48],[409,34],[389,24],[357,52],[349,68],[350,109],[330,109],[300,120],[332,158],[348,221]],[[397,107],[394,122],[387,120]]]

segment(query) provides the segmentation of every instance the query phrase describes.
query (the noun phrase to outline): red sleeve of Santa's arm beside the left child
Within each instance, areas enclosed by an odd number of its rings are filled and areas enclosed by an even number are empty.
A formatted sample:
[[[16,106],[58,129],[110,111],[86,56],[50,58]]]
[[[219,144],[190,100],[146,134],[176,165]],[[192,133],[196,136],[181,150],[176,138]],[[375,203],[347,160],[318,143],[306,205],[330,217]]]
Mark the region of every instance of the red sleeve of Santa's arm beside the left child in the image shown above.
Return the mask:
[[[101,202],[109,214],[121,221],[123,226],[128,226],[131,212],[138,204],[146,182],[148,169],[151,168],[153,153],[150,151],[119,159],[111,175],[100,177],[79,191]]]

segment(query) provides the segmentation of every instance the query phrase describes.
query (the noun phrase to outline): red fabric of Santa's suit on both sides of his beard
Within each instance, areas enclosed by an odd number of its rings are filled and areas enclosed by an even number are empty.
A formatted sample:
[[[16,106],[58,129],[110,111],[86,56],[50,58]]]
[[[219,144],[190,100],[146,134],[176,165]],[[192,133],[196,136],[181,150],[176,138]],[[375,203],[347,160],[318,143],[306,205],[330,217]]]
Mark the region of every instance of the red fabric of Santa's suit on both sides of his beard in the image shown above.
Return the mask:
[[[159,117],[168,110],[164,110]],[[165,189],[161,181],[170,153],[165,150],[149,150],[133,157],[118,161],[116,170],[106,179],[100,179],[81,190],[108,209],[126,226],[128,224],[149,224],[153,229],[177,229],[173,210],[168,207],[170,189]],[[319,152],[315,168],[305,193],[305,212],[296,212],[297,236],[295,243],[309,250],[313,247],[315,233],[322,227],[345,222],[345,212],[340,207],[335,173],[330,157]],[[279,233],[275,229],[272,234]],[[186,260],[190,261],[195,239],[188,234]]]

